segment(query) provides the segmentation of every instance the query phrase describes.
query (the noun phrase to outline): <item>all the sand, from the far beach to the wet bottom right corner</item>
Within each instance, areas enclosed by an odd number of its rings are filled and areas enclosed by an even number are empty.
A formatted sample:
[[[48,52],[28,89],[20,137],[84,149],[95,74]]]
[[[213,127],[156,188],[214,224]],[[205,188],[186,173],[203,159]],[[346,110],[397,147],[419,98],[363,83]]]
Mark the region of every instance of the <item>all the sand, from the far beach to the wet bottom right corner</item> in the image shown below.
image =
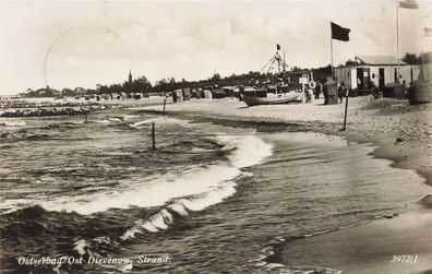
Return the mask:
[[[432,106],[407,100],[349,98],[347,131],[344,105],[311,104],[247,107],[238,99],[190,100],[167,106],[168,115],[194,117],[280,131],[314,131],[372,143],[375,157],[393,167],[415,169],[432,184]],[[160,112],[160,106],[142,108]],[[266,128],[267,127],[267,128]],[[407,182],[409,183],[409,182]],[[425,195],[429,193],[424,193]],[[321,265],[349,273],[427,273],[432,270],[431,196],[408,205],[399,216],[386,216],[353,228],[287,241],[273,263]],[[412,263],[391,263],[394,255],[418,255]],[[311,261],[313,258],[313,261]],[[428,272],[429,273],[429,272]]]

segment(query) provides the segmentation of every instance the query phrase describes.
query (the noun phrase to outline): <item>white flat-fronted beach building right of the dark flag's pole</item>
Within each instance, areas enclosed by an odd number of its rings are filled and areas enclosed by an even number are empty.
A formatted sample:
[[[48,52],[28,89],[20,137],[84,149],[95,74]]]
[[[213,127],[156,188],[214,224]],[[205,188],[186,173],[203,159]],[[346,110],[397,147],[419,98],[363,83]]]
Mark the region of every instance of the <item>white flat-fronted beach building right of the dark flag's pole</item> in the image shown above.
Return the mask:
[[[419,79],[420,65],[406,64],[399,61],[399,75],[397,75],[397,59],[393,56],[356,57],[355,64],[335,68],[338,83],[344,82],[348,90],[357,90],[363,94],[373,82],[379,90],[386,84],[397,82],[410,83]]]

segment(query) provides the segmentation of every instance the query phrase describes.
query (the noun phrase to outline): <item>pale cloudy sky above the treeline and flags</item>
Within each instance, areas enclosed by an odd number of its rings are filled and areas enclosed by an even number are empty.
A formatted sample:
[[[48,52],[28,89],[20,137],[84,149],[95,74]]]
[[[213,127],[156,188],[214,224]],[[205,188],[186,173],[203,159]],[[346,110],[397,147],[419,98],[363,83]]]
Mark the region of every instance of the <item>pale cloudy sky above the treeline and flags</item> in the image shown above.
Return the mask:
[[[420,53],[432,1],[399,9],[400,55]],[[153,84],[215,72],[260,71],[276,51],[288,67],[331,63],[329,22],[350,28],[333,41],[334,64],[396,56],[396,0],[0,1],[0,95],[49,85],[122,83],[129,70]],[[423,40],[423,41],[422,41]]]

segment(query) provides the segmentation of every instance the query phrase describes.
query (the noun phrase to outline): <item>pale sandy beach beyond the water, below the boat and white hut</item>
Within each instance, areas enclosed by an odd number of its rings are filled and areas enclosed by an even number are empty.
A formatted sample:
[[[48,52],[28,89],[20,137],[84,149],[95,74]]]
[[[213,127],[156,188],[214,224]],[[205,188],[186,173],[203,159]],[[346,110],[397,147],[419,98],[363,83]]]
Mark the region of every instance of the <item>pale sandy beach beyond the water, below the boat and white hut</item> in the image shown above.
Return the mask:
[[[161,114],[161,106],[143,107]],[[349,140],[377,144],[377,157],[389,158],[399,168],[416,169],[431,184],[432,179],[432,106],[410,106],[407,100],[370,97],[349,98],[347,131],[340,131],[344,105],[311,104],[247,107],[238,99],[192,99],[167,105],[167,114],[196,117],[219,122],[264,127],[283,131],[314,131],[346,136]],[[273,128],[274,128],[273,127]]]

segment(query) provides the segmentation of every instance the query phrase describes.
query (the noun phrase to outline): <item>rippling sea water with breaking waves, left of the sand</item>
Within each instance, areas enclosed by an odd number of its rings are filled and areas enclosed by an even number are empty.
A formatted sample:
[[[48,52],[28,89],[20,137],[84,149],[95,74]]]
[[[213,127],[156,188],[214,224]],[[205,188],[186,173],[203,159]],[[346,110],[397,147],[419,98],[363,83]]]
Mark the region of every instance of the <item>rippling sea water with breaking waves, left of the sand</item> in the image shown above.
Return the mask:
[[[88,123],[0,123],[1,265],[10,272],[289,272],[267,263],[274,243],[403,212],[430,191],[415,171],[370,156],[373,146],[315,133],[121,109]],[[169,262],[140,263],[143,255]],[[20,257],[131,262],[20,265]]]

